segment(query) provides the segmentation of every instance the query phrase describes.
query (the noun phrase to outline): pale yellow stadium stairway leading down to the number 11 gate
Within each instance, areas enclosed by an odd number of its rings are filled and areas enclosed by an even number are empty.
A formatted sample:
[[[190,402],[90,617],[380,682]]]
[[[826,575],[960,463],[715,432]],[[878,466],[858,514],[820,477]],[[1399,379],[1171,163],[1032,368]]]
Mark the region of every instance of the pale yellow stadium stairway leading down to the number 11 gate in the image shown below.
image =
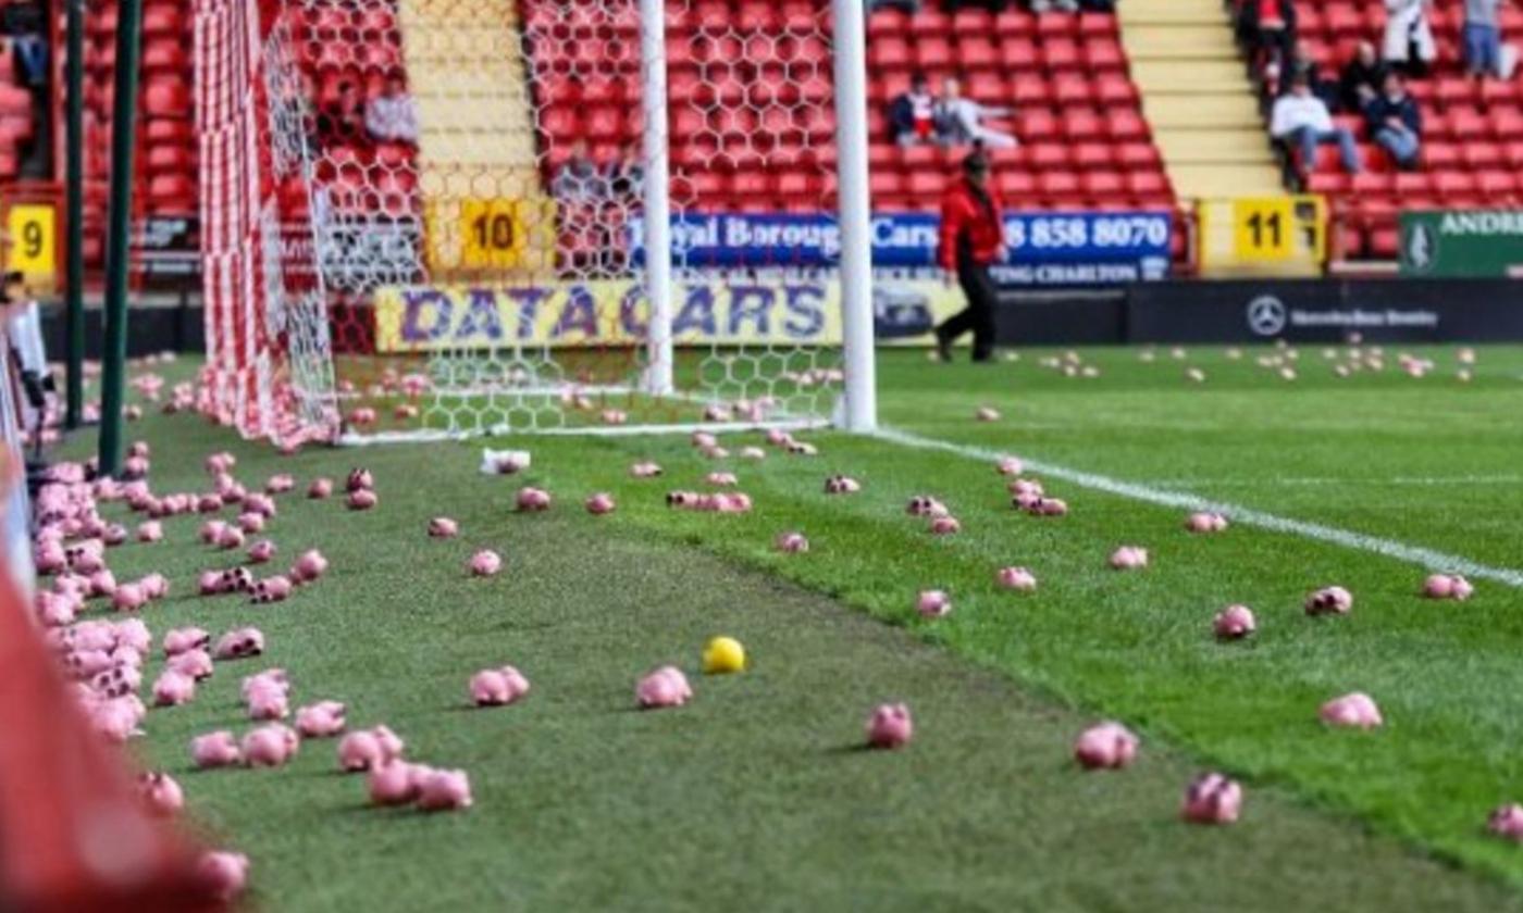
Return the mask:
[[[1220,218],[1229,212],[1224,201],[1285,195],[1231,21],[1220,0],[1125,0],[1116,11],[1132,79],[1174,190],[1209,216],[1202,219],[1200,250],[1231,250],[1232,224]],[[1202,269],[1223,275],[1235,268],[1208,256]],[[1310,247],[1269,269],[1320,274]],[[1252,271],[1263,275],[1266,265]]]

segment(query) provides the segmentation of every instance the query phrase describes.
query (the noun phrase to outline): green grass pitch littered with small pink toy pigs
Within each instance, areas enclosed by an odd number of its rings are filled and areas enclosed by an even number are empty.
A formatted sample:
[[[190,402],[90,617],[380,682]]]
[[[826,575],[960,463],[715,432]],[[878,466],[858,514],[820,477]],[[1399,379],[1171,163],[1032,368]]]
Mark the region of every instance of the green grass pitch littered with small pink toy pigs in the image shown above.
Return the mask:
[[[1482,350],[1471,385],[1334,380],[1317,352],[1302,352],[1295,383],[1253,367],[1258,352],[1196,355],[1205,387],[1167,355],[1086,352],[1103,376],[1084,380],[1039,368],[1043,355],[978,368],[885,355],[885,420],[1523,565],[1523,484],[1435,482],[1518,472],[1523,352]],[[1004,420],[975,423],[982,403]],[[378,479],[367,514],[282,499],[283,557],[320,546],[334,561],[282,606],[189,596],[196,571],[230,563],[195,545],[195,520],[113,554],[119,577],[172,577],[175,598],[148,612],[155,633],[268,636],[263,662],[224,665],[192,706],[151,712],[139,747],[180,776],[204,826],[250,852],[268,908],[1523,908],[1523,852],[1482,832],[1493,805],[1523,797],[1523,600],[1502,584],[1424,603],[1409,565],[1241,525],[1189,537],[1177,511],[1058,484],[1072,516],[1025,517],[987,464],[844,435],[815,435],[816,458],[728,466],[757,510],[711,516],[663,505],[717,467],[678,438],[527,440],[535,470],[500,479],[475,473],[472,446],[280,458],[192,418],[134,431],[155,447],[160,490],[204,485],[200,463],[222,447],[247,481],[358,463]],[[631,479],[637,458],[666,478]],[[822,495],[835,472],[864,491]],[[1412,478],[1424,481],[1389,481]],[[556,508],[510,513],[521,482],[548,487]],[[582,513],[594,490],[614,491],[618,513]],[[937,540],[906,517],[920,491],[964,533]],[[460,540],[423,537],[439,513],[461,520]],[[809,554],[771,551],[789,528]],[[1124,542],[1151,548],[1153,568],[1106,569]],[[501,577],[465,575],[481,546],[507,558]],[[1031,566],[1039,592],[998,592],[1007,563]],[[1304,593],[1333,581],[1354,590],[1354,615],[1305,618]],[[924,622],[912,603],[931,586],[955,612]],[[1260,613],[1253,641],[1211,641],[1229,601]],[[751,671],[696,676],[719,633],[746,644]],[[466,709],[466,677],[501,662],[528,674],[530,698]],[[663,662],[694,676],[694,703],[632,711],[635,677]],[[187,770],[192,735],[247,726],[238,679],[263,665],[291,671],[299,703],[346,700],[353,723],[387,721],[416,758],[468,768],[477,805],[370,810],[323,743],[280,771]],[[1322,700],[1352,689],[1380,701],[1386,729],[1316,723]],[[911,705],[915,743],[856,750],[867,711],[889,698]],[[1142,732],[1135,768],[1086,775],[1068,759],[1101,717]],[[1177,820],[1202,767],[1244,779],[1240,825]]]

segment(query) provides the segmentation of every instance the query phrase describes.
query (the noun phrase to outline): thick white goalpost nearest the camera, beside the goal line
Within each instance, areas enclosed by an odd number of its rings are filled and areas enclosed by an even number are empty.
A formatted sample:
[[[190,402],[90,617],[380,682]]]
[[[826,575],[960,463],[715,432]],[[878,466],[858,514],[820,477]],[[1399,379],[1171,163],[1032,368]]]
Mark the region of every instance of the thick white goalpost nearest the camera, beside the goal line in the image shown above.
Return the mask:
[[[836,44],[836,149],[841,167],[841,344],[845,358],[845,428],[877,429],[873,352],[873,240],[867,183],[867,27],[862,0],[833,0]]]

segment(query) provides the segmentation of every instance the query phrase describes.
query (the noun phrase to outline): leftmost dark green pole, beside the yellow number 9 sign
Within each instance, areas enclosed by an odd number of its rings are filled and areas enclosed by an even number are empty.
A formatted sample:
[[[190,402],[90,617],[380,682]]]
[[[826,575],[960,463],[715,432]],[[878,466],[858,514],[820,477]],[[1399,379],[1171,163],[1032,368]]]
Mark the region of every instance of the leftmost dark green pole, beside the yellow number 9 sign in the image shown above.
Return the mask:
[[[67,190],[64,221],[69,225],[69,253],[64,291],[64,428],[79,428],[85,402],[85,0],[64,0],[69,9],[67,47],[69,70],[65,117],[65,172]]]

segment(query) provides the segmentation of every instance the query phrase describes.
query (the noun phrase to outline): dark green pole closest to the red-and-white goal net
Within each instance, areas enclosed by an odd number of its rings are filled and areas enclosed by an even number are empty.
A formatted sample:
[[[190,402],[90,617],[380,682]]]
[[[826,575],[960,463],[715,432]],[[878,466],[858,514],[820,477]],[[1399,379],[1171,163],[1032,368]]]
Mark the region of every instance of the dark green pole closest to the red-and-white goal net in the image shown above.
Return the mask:
[[[101,475],[122,466],[126,388],[126,277],[133,231],[133,146],[143,0],[122,0],[116,26],[116,110],[111,111],[111,208],[105,250],[105,358],[101,371]]]

